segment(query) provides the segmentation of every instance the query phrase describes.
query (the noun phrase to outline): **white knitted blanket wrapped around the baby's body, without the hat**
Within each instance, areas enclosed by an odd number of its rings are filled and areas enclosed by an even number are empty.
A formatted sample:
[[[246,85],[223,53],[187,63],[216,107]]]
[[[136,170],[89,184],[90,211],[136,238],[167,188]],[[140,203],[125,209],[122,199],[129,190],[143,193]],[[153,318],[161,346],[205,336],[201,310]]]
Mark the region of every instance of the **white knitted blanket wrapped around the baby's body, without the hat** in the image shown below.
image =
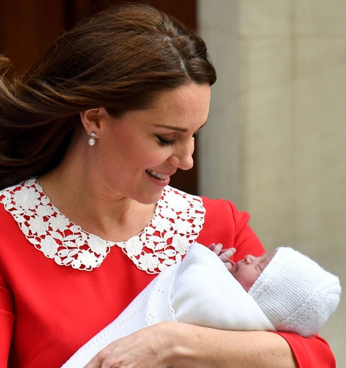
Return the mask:
[[[163,321],[227,330],[275,330],[216,254],[194,243],[180,263],[151,281],[116,320],[93,336],[62,367],[84,367],[112,341]]]

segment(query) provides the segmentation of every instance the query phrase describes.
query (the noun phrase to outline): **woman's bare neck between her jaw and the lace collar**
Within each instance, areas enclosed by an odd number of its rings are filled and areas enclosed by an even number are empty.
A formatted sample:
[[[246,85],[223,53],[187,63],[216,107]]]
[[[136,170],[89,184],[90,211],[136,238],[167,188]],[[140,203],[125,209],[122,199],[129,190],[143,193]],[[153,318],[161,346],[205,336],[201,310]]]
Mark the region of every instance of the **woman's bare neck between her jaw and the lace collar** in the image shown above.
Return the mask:
[[[110,193],[78,148],[74,145],[56,168],[38,178],[45,194],[70,221],[105,240],[125,241],[138,234],[150,223],[156,204]]]

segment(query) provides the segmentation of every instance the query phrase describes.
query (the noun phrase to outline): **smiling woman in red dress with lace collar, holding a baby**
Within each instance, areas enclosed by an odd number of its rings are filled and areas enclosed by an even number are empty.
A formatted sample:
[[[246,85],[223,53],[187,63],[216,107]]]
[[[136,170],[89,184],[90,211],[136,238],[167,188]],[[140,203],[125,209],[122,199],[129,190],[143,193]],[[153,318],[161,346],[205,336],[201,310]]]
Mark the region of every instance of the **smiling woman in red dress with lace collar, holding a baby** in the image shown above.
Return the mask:
[[[129,5],[84,21],[23,79],[1,82],[1,367],[59,367],[194,240],[234,246],[235,261],[263,253],[232,203],[167,186],[193,165],[215,80],[199,37]],[[318,337],[163,322],[87,367],[296,363],[335,364]]]

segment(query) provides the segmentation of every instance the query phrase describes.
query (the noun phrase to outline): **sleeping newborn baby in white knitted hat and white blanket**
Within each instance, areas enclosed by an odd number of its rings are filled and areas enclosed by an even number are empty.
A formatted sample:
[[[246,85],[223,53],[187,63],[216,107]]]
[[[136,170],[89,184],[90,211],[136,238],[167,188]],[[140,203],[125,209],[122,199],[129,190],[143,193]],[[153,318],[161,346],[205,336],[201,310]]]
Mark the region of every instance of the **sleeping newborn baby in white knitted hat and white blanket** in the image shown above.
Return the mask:
[[[221,244],[209,248],[215,254],[193,243],[181,262],[154,278],[63,368],[84,367],[110,342],[153,323],[176,321],[311,336],[338,306],[338,277],[292,248],[249,255],[237,263],[229,259],[234,248],[222,249]]]

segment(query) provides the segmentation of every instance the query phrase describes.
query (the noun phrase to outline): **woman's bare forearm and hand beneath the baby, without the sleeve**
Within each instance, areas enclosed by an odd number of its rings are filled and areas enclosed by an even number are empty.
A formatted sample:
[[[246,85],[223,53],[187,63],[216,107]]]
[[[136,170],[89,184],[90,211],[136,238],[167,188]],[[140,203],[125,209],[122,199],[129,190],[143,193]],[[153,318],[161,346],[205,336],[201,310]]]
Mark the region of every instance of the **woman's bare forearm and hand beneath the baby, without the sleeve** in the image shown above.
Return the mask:
[[[224,331],[162,322],[116,340],[86,368],[296,367],[291,349],[271,332]]]

